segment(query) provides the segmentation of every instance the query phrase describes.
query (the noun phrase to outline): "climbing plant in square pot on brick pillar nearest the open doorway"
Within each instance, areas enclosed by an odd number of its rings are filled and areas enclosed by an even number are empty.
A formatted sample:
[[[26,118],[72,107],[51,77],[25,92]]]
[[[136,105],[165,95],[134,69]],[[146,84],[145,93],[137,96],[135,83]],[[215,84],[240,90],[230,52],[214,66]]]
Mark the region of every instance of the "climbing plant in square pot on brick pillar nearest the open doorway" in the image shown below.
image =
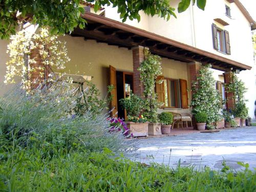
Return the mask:
[[[160,103],[155,93],[156,79],[162,74],[161,69],[161,57],[145,50],[144,60],[140,63],[138,71],[140,72],[140,81],[144,86],[143,116],[150,122],[148,124],[148,135],[162,134],[157,114]]]

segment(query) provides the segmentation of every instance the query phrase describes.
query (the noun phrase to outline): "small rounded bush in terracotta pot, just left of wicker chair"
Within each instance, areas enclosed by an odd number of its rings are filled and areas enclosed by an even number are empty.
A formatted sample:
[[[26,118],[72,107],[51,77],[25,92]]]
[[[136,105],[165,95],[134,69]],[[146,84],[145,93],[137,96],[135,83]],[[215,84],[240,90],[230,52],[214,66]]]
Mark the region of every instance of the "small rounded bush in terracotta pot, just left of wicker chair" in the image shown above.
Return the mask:
[[[162,134],[170,134],[173,118],[173,114],[170,112],[162,112],[161,114],[159,114]]]

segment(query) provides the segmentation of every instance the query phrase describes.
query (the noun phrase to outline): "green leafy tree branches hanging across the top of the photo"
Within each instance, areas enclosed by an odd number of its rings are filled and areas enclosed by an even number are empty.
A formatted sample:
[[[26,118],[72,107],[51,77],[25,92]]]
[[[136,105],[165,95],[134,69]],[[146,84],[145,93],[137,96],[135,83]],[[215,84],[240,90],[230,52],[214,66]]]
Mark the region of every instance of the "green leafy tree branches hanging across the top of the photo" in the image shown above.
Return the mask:
[[[168,0],[88,0],[94,3],[97,11],[101,6],[118,7],[122,22],[127,18],[140,21],[139,11],[147,15],[159,15],[167,20],[175,16],[175,9],[169,6]],[[204,9],[206,0],[197,0],[198,7]],[[5,0],[0,1],[0,38],[8,39],[15,34],[18,24],[31,22],[40,27],[48,26],[51,33],[72,32],[75,27],[84,28],[86,20],[81,18],[84,9],[80,0]],[[185,6],[184,6],[185,4]],[[185,11],[190,0],[182,0],[179,12]]]

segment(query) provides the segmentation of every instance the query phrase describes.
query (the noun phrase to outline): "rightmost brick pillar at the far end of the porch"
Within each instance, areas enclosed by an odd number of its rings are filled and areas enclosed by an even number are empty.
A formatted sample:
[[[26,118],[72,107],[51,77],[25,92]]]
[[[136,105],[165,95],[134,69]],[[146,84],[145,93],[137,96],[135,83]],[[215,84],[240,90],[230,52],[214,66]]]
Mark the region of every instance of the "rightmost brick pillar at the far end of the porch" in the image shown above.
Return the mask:
[[[224,82],[226,84],[229,84],[230,82],[233,82],[233,73],[231,71],[223,73],[224,76]],[[234,109],[234,93],[230,92],[227,93],[225,91],[225,96],[226,96],[226,105],[227,105],[227,110],[233,110]]]

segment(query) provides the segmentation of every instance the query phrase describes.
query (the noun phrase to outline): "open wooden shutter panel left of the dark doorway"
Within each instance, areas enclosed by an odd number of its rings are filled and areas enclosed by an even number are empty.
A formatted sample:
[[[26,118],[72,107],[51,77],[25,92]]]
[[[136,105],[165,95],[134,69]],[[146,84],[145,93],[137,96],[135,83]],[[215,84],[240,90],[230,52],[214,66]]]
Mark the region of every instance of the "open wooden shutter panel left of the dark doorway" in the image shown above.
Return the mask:
[[[110,107],[112,110],[111,116],[117,116],[117,93],[116,93],[116,68],[110,66],[110,84],[113,84],[114,89],[111,91],[111,95],[113,99],[110,103]]]

